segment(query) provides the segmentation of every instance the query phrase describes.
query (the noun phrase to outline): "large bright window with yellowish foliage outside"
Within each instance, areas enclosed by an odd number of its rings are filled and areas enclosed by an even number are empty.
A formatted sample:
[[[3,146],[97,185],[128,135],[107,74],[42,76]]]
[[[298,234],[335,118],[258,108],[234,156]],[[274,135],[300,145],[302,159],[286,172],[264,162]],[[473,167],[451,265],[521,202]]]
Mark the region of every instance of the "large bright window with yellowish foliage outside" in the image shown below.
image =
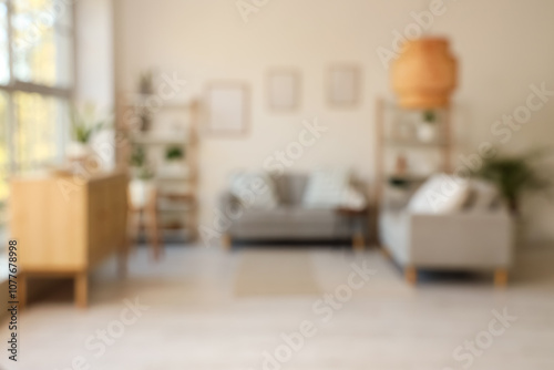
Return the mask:
[[[9,176],[63,157],[73,90],[68,0],[0,0],[0,205]]]

